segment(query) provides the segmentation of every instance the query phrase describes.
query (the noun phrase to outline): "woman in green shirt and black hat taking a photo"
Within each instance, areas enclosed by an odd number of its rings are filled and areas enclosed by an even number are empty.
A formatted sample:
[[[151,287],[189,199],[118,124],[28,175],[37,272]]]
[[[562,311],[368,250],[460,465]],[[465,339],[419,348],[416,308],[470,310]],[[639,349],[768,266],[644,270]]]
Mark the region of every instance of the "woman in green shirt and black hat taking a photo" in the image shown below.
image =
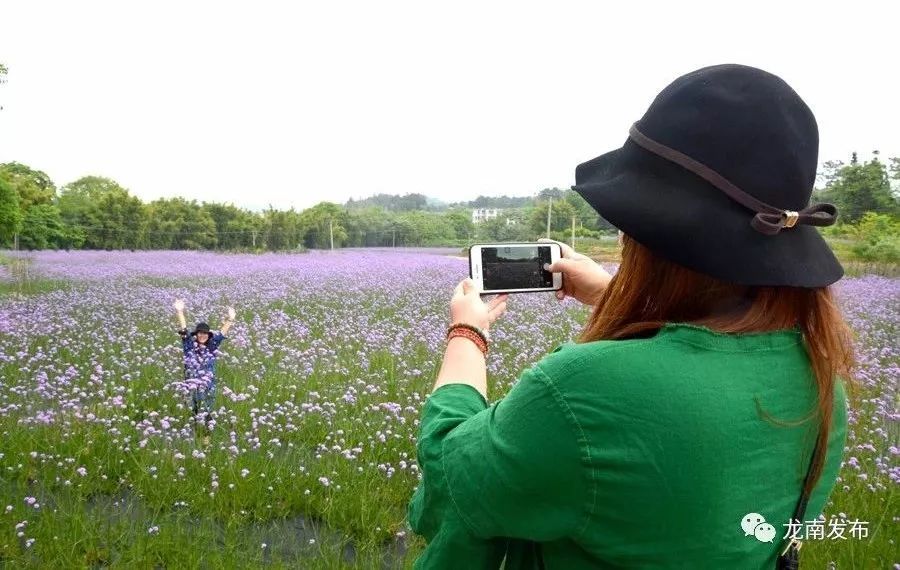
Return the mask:
[[[419,426],[417,567],[774,568],[804,538],[792,518],[835,484],[853,362],[829,287],[843,270],[812,227],[836,211],[807,206],[817,154],[774,75],[669,85],[576,169],[624,232],[618,272],[564,248],[549,270],[594,307],[587,326],[493,405],[479,329],[506,298],[459,285]]]

